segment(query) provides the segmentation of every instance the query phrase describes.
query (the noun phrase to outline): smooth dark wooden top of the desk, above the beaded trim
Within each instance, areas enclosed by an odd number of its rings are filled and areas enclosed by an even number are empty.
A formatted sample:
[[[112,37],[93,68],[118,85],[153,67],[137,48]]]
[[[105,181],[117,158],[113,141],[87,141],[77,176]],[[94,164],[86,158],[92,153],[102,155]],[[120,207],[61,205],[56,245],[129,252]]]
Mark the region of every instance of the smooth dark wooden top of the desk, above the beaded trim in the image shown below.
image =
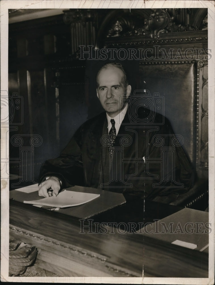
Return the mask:
[[[139,276],[142,276],[144,264],[145,276],[207,277],[206,253],[124,230],[124,224],[140,223],[141,227],[142,223],[162,219],[180,209],[131,197],[126,204],[92,217],[89,231],[89,220],[79,221],[54,211],[10,201],[10,224],[105,256],[112,264],[128,268]],[[123,227],[121,232],[109,226],[107,232],[98,232],[98,224],[102,222],[121,223]],[[83,225],[87,227],[83,228]]]

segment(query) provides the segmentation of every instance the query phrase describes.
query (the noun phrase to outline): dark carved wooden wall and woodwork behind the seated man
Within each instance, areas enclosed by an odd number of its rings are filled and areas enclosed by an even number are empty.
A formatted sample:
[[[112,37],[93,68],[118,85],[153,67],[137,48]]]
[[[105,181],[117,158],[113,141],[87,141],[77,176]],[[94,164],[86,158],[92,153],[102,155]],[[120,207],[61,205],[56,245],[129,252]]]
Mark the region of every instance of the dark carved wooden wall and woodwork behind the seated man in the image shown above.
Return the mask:
[[[9,96],[22,97],[22,106],[10,122],[11,175],[20,175],[20,149],[32,150],[33,135],[42,138],[42,143],[33,147],[37,181],[41,163],[58,156],[76,129],[102,111],[89,68],[92,61],[78,59],[79,45],[207,48],[207,9],[166,9],[170,18],[160,37],[147,25],[155,13],[161,17],[162,9],[158,10],[70,9],[60,15],[9,24]],[[12,17],[13,11],[9,15]],[[181,63],[180,59],[175,61]],[[139,63],[130,62],[133,86],[138,84]],[[151,63],[156,64],[156,60]],[[198,175],[207,178],[207,62],[194,58],[194,63],[195,166]],[[17,124],[21,110],[23,122]],[[24,139],[22,146],[11,143],[14,135]]]

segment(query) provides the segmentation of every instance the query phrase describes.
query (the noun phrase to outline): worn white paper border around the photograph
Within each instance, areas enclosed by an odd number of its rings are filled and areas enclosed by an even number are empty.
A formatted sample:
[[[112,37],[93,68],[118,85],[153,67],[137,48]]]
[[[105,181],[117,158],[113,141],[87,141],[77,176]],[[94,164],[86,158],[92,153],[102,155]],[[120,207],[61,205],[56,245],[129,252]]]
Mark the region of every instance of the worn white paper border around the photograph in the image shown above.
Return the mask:
[[[70,1],[70,0],[2,0],[0,2],[1,17],[1,90],[8,91],[8,9],[67,9],[67,8],[114,8],[114,9],[149,9],[149,8],[208,8],[208,48],[212,50],[212,58],[208,60],[208,129],[209,129],[209,222],[212,232],[209,234],[209,276],[208,278],[115,278],[115,277],[8,277],[9,262],[9,177],[1,180],[1,281],[5,282],[63,282],[63,283],[110,283],[110,284],[213,284],[214,283],[214,137],[215,137],[215,8],[214,1]],[[1,118],[8,115],[7,107],[1,107]],[[1,156],[5,157],[9,149],[6,132],[9,126],[1,126]],[[1,161],[1,177],[5,162]]]

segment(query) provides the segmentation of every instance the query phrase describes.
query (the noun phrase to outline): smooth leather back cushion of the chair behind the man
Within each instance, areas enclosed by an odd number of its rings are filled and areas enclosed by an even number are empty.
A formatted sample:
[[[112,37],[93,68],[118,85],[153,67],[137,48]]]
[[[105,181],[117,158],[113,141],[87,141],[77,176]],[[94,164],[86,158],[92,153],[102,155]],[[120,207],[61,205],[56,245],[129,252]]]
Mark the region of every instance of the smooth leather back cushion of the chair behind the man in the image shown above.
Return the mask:
[[[155,103],[155,111],[164,114],[175,134],[183,137],[182,147],[193,166],[197,139],[195,74],[195,63],[144,63],[140,64],[137,80],[138,89],[149,90],[151,96],[159,93],[159,97],[164,97],[164,108]]]

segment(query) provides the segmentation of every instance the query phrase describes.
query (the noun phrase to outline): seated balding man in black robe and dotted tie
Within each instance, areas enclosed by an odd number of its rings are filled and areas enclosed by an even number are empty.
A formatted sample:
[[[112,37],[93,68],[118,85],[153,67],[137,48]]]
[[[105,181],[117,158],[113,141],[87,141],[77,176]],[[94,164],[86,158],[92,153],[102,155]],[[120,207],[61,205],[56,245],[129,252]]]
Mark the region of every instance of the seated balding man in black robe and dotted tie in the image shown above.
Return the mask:
[[[191,166],[180,143],[174,144],[170,122],[141,99],[132,103],[130,93],[121,64],[99,70],[97,97],[105,112],[86,121],[60,156],[42,165],[39,196],[57,196],[74,185],[148,199],[189,190]]]

